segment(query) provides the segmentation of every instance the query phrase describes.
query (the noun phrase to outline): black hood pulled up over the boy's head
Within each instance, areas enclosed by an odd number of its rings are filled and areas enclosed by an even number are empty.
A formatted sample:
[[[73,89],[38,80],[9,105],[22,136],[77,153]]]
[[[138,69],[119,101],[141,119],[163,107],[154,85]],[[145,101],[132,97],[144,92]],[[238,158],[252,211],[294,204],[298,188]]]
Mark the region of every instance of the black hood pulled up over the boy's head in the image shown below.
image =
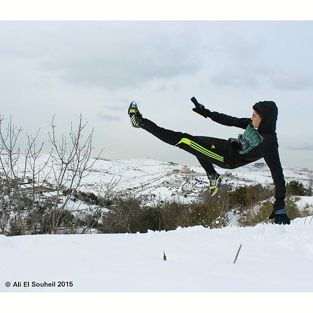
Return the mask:
[[[260,101],[255,104],[262,114],[258,131],[260,133],[275,133],[278,109],[274,101]]]

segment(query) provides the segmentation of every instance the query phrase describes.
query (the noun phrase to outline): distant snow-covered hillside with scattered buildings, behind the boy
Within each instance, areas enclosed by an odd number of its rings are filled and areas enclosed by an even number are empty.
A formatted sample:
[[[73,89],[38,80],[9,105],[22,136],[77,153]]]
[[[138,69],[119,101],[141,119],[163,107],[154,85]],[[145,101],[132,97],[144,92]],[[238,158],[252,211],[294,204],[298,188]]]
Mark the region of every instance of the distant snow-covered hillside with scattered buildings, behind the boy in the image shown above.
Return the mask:
[[[36,166],[44,170],[37,180],[38,183],[42,183],[43,179],[47,179],[53,184],[51,172],[53,164],[51,159],[47,160],[48,155],[40,155]],[[21,158],[17,166],[22,168],[23,162]],[[44,167],[46,162],[47,165]],[[251,164],[234,170],[217,168],[217,171],[224,175],[223,182],[233,186],[272,183],[270,171],[265,163]],[[301,169],[284,168],[284,175],[287,182],[298,180],[304,185],[313,179],[313,171]],[[114,192],[135,194],[136,197],[144,196],[143,204],[151,204],[159,199],[173,200],[177,197],[181,202],[190,202],[196,200],[199,193],[208,187],[208,179],[201,166],[186,166],[171,161],[142,158],[97,159],[78,189],[98,195],[101,186],[108,186],[113,182],[115,182]]]

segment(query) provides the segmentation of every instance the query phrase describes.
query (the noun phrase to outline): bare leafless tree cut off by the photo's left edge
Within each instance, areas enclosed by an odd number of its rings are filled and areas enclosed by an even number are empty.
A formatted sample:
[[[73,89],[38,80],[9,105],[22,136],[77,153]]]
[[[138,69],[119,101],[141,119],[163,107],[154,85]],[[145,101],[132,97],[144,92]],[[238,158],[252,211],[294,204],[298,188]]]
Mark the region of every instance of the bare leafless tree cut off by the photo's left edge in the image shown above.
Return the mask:
[[[22,153],[21,146],[18,144],[22,128],[13,125],[11,116],[7,126],[4,126],[4,120],[4,117],[0,116],[0,183],[1,196],[7,194],[9,197],[5,203],[1,201],[2,223],[0,227],[4,231],[8,222],[7,217],[10,212],[16,211],[21,234],[25,234],[27,231],[24,223],[25,214],[22,211],[25,208],[32,208],[37,200],[35,199],[35,181],[37,176],[39,180],[39,174],[44,170],[48,160],[42,166],[37,166],[37,159],[44,145],[42,142],[38,146],[36,142],[40,129],[34,137],[26,133],[28,141]],[[29,197],[29,191],[26,188],[22,188],[27,174],[31,176],[32,197]],[[24,193],[24,190],[27,192]]]

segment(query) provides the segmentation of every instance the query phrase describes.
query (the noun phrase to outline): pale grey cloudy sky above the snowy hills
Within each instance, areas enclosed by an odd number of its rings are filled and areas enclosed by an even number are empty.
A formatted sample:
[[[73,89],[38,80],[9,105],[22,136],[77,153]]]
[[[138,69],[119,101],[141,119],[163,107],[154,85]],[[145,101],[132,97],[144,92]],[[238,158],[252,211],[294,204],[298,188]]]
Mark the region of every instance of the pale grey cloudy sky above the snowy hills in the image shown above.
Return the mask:
[[[0,22],[1,112],[49,150],[79,115],[94,129],[93,154],[197,159],[131,128],[127,109],[193,135],[237,137],[241,129],[192,111],[250,117],[275,101],[281,162],[313,169],[313,22]],[[23,140],[21,137],[21,144]]]

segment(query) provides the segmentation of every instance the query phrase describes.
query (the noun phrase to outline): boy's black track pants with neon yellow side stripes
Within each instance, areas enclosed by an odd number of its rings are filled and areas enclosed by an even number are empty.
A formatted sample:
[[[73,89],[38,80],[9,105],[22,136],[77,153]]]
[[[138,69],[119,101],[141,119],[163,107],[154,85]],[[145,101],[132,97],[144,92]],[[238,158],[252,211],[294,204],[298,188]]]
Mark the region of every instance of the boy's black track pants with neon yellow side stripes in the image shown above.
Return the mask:
[[[159,127],[146,118],[143,120],[142,128],[160,140],[196,156],[208,176],[216,174],[213,164],[228,168],[224,161],[227,140],[174,132]]]

